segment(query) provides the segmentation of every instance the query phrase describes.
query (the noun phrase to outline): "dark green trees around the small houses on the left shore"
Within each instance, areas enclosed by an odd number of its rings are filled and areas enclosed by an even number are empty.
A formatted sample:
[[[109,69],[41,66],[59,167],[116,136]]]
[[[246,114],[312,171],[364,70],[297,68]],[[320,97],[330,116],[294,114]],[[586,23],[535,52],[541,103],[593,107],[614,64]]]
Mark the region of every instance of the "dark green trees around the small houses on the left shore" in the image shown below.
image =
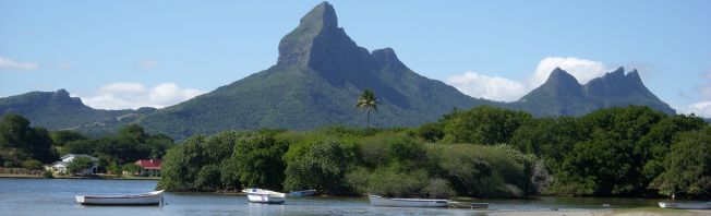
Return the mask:
[[[138,159],[159,159],[174,146],[164,134],[147,134],[136,124],[121,127],[117,134],[89,137],[71,130],[48,131],[31,127],[31,122],[15,113],[5,115],[0,122],[0,164],[3,167],[43,169],[67,154],[86,154],[99,158],[99,169],[121,173],[123,168],[135,171],[131,164]],[[71,170],[81,170],[91,161],[79,160]],[[122,166],[126,165],[126,166]]]

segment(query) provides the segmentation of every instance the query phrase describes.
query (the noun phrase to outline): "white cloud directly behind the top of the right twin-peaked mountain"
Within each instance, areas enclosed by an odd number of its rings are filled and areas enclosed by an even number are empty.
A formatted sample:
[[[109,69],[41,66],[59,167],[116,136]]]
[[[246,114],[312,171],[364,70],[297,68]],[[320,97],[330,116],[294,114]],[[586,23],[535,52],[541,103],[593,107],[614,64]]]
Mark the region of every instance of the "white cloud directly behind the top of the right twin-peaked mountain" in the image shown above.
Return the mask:
[[[533,76],[529,81],[529,88],[535,88],[545,83],[556,67],[567,71],[570,75],[575,76],[580,84],[586,84],[588,81],[600,77],[606,72],[614,71],[614,68],[605,67],[600,61],[592,61],[588,59],[578,59],[575,57],[546,57],[539,62],[535,68]]]

